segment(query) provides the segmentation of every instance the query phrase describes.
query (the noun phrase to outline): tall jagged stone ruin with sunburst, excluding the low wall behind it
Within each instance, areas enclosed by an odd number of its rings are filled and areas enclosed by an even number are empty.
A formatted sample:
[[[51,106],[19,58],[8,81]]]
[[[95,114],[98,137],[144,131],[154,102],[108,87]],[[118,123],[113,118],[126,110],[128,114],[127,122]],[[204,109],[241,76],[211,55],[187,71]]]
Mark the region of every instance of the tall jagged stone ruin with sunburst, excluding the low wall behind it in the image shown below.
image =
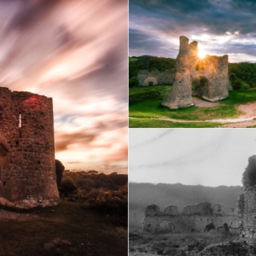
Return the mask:
[[[185,104],[173,102],[175,102],[174,99],[182,102],[181,98],[189,98],[187,94],[192,83],[194,84],[193,95],[208,101],[216,102],[229,96],[228,55],[206,55],[205,58],[201,59],[198,55],[197,44],[195,41],[189,44],[189,38],[180,37],[180,48],[175,69],[177,73],[181,73],[181,70],[188,70],[190,79],[181,83],[177,81],[177,76],[175,76],[172,87],[175,85],[176,88],[169,91],[162,105],[168,108],[188,107],[189,105],[186,106],[187,102]],[[182,107],[177,107],[178,105]]]

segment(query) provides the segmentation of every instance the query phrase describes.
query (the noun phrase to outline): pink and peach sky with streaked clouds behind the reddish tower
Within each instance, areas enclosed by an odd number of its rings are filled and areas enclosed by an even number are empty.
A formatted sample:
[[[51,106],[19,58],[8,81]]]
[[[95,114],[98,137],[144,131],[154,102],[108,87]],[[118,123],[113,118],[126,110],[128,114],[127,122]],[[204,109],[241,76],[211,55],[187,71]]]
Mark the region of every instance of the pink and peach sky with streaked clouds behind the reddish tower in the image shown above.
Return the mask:
[[[0,0],[0,86],[53,98],[55,157],[127,173],[126,0]]]

